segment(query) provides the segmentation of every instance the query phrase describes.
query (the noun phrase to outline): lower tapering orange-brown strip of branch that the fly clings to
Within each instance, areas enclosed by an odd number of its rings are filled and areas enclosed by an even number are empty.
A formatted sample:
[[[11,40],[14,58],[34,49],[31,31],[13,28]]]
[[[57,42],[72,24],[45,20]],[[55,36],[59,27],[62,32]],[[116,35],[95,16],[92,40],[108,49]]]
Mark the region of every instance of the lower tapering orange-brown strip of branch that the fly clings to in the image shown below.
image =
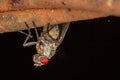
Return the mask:
[[[9,11],[0,13],[0,33],[24,30],[26,29],[25,22],[32,28],[32,21],[35,21],[36,25],[40,27],[48,23],[59,24],[104,16],[106,16],[106,14],[68,9]]]

